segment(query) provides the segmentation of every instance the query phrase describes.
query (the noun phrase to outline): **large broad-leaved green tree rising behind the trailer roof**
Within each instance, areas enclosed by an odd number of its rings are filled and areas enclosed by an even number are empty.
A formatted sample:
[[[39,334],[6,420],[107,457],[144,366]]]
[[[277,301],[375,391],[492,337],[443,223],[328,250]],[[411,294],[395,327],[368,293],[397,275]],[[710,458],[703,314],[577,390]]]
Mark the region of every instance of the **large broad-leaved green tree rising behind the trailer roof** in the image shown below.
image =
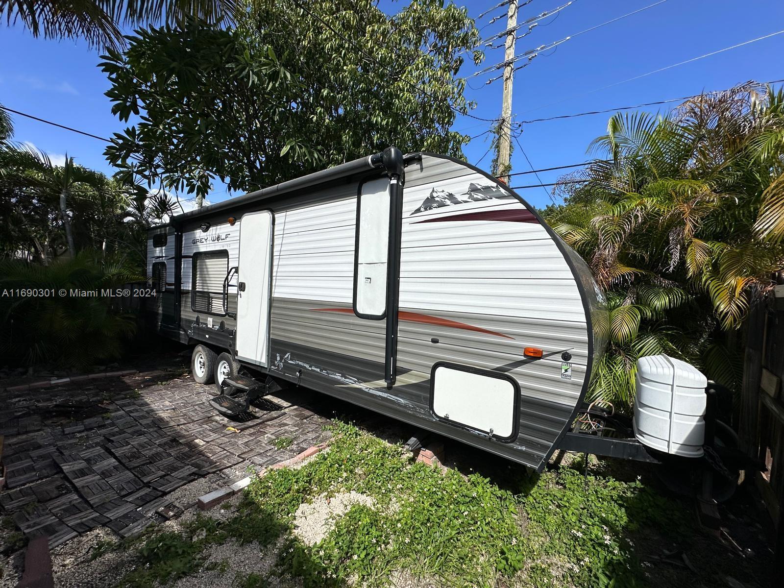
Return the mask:
[[[123,121],[113,165],[167,189],[252,191],[390,144],[462,155],[473,104],[456,78],[478,33],[466,10],[412,2],[257,0],[233,29],[199,20],[136,31],[102,64]]]

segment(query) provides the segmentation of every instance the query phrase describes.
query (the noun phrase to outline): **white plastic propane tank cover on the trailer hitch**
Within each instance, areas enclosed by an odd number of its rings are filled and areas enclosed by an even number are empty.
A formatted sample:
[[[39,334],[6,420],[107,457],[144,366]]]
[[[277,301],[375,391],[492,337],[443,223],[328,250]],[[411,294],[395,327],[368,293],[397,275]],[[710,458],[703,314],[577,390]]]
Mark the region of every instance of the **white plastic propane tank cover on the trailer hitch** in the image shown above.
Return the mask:
[[[673,456],[700,457],[705,440],[705,389],[697,368],[667,355],[637,360],[634,436]]]

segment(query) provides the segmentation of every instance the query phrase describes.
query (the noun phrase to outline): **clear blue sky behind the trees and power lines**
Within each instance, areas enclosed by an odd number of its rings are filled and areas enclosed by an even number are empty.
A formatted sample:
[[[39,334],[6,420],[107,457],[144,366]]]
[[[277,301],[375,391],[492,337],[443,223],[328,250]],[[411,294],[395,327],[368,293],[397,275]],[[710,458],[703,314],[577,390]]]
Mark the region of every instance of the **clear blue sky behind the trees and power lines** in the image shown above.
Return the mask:
[[[470,15],[480,13],[499,0],[457,2],[466,5]],[[532,0],[521,9],[518,20],[554,9],[567,0]],[[542,20],[526,38],[517,42],[518,53],[583,31],[594,25],[630,13],[655,0],[575,0],[559,13]],[[399,2],[383,2],[387,12]],[[479,20],[484,26],[492,16],[503,14],[496,9]],[[506,19],[481,32],[487,37],[502,31]],[[749,79],[769,81],[784,78],[784,34],[750,45],[706,57],[690,64],[613,85],[648,71],[677,64],[730,45],[749,41],[784,29],[784,2],[780,0],[667,0],[651,9],[608,24],[596,31],[579,35],[559,45],[549,56],[538,56],[530,67],[518,71],[514,81],[513,113],[517,121],[560,114],[601,110],[637,103],[690,96],[701,91],[725,89]],[[31,38],[21,27],[0,25],[0,103],[19,111],[48,118],[64,125],[111,136],[123,125],[112,116],[111,104],[103,93],[108,82],[100,71],[99,54],[83,42],[46,41]],[[503,60],[503,49],[487,53],[485,64]],[[460,72],[467,75],[474,67],[466,65]],[[472,78],[477,89],[467,89],[466,96],[478,107],[472,114],[496,118],[500,114],[502,82],[481,84],[494,74]],[[666,107],[662,107],[666,111]],[[648,110],[656,111],[656,108]],[[586,160],[590,140],[601,135],[609,114],[599,114],[562,121],[532,123],[523,126],[521,144],[535,168],[548,168]],[[56,129],[19,116],[14,117],[15,139],[62,158],[74,156],[82,165],[111,173],[103,158],[100,141]],[[454,129],[478,135],[489,123],[458,117]],[[464,148],[471,163],[477,163],[489,146],[488,136],[472,141]],[[512,158],[514,172],[528,171],[519,147]],[[479,166],[489,169],[492,154]],[[568,171],[568,170],[567,170]],[[557,180],[562,172],[540,172],[544,183]],[[512,185],[538,183],[533,174],[517,176]],[[524,198],[535,206],[550,202],[542,188],[522,190]],[[227,198],[223,187],[216,187],[210,201]]]

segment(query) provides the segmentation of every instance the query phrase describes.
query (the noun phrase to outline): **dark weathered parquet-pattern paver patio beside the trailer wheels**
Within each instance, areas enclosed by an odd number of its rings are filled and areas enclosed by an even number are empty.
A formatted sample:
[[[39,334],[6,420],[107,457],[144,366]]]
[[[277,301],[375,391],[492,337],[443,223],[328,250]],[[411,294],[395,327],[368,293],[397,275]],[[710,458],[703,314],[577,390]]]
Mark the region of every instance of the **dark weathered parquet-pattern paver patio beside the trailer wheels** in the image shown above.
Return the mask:
[[[306,408],[325,399],[307,390],[265,397],[234,420],[207,405],[214,387],[190,376],[162,381],[171,377],[141,372],[3,394],[3,515],[30,539],[49,535],[50,548],[99,525],[126,537],[179,514],[167,495],[188,482],[241,477],[329,437],[329,419]],[[279,437],[291,445],[276,448]]]

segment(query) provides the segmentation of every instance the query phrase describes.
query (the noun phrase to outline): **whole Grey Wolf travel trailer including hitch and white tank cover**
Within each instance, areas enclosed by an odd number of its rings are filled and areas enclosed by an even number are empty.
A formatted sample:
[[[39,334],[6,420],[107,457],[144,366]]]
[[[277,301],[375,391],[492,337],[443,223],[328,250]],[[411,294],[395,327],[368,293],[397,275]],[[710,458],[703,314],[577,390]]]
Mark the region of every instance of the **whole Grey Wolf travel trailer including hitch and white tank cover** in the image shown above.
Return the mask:
[[[557,448],[703,455],[707,380],[666,356],[641,366],[628,438],[572,430],[601,291],[523,198],[455,158],[390,147],[186,212],[147,257],[155,328],[194,345],[227,415],[294,383],[539,471]]]

